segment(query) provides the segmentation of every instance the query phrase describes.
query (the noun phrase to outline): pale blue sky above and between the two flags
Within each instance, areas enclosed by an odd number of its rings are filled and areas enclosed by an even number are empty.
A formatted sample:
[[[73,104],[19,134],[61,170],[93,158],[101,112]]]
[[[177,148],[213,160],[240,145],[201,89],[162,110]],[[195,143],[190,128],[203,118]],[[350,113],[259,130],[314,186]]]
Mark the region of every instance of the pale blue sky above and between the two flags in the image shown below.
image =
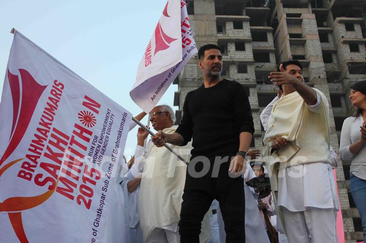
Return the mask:
[[[0,0],[0,90],[14,27],[119,105],[137,115],[129,92],[166,0]],[[173,106],[171,85],[158,103]],[[1,97],[1,93],[0,93]],[[177,110],[177,107],[172,107]],[[147,123],[147,118],[143,120]],[[130,131],[125,155],[136,147]]]

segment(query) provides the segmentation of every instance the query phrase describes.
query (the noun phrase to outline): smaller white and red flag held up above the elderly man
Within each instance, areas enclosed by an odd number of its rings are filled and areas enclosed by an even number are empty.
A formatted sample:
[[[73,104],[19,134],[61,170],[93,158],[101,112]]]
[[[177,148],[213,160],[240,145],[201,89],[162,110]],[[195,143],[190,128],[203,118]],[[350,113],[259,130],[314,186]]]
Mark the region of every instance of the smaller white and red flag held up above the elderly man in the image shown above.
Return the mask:
[[[130,96],[146,113],[197,53],[185,0],[168,0],[137,70]]]

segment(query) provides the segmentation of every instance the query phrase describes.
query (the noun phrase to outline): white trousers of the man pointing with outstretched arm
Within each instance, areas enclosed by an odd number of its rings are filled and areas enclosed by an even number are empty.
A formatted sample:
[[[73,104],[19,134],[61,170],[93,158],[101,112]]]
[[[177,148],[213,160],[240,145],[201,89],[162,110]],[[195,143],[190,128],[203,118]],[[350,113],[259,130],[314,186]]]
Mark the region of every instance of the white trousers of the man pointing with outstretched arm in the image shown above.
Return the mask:
[[[338,243],[333,209],[282,210],[289,243]]]

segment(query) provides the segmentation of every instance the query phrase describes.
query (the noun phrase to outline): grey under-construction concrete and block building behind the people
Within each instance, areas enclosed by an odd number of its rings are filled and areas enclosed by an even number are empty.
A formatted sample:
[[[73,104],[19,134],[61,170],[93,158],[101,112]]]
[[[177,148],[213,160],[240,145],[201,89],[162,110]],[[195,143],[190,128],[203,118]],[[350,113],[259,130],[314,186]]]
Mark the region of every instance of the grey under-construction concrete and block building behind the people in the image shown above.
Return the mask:
[[[359,0],[187,0],[198,47],[216,43],[223,50],[224,78],[241,83],[249,94],[261,149],[262,109],[277,95],[267,79],[277,64],[297,59],[308,85],[326,95],[330,107],[331,146],[338,153],[343,120],[354,113],[350,85],[366,80],[366,1]],[[187,93],[202,84],[192,58],[174,81],[177,120]],[[361,221],[349,187],[350,161],[337,168],[346,242],[363,239]],[[316,190],[314,188],[314,190]]]

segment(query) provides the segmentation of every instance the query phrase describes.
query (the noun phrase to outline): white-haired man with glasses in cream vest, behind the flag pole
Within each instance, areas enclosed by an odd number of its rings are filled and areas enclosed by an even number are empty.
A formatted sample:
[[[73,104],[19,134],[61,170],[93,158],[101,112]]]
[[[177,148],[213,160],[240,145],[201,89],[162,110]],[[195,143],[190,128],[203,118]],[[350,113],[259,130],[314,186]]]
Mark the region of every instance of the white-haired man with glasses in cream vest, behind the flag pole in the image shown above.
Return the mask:
[[[150,112],[154,129],[170,134],[175,132],[175,116],[169,106],[157,106]],[[144,142],[148,133],[139,128],[135,164],[131,170],[142,172],[139,195],[140,225],[144,242],[179,242],[178,221],[187,166],[166,148]],[[184,147],[172,146],[189,161],[191,143]],[[205,242],[210,235],[209,221],[203,221],[200,238]]]

